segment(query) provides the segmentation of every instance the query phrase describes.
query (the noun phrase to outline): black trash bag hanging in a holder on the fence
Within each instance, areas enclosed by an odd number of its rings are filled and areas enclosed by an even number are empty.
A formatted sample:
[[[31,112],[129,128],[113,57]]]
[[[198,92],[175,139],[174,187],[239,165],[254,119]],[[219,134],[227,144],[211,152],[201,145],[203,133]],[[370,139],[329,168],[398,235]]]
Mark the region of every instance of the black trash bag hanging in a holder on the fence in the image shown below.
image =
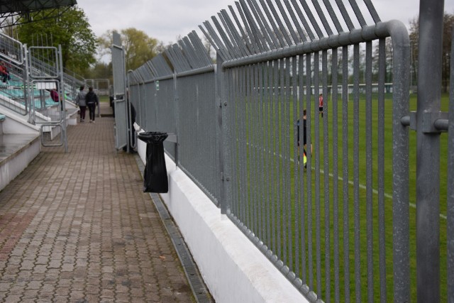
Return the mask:
[[[167,180],[163,143],[167,138],[167,133],[148,131],[139,133],[138,138],[147,143],[147,162],[143,172],[143,192],[168,192],[169,182]]]

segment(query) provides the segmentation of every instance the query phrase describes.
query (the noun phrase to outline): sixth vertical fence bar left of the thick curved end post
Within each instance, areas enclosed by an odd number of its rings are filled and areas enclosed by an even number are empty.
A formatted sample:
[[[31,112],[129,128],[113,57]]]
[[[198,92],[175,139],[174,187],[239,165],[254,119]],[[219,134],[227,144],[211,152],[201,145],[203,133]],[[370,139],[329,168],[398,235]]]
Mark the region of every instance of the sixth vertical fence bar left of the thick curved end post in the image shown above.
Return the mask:
[[[321,53],[321,70],[323,84],[323,189],[324,189],[324,211],[325,221],[325,302],[331,302],[331,239],[330,239],[330,201],[329,201],[329,131],[328,131],[328,51],[323,50]]]

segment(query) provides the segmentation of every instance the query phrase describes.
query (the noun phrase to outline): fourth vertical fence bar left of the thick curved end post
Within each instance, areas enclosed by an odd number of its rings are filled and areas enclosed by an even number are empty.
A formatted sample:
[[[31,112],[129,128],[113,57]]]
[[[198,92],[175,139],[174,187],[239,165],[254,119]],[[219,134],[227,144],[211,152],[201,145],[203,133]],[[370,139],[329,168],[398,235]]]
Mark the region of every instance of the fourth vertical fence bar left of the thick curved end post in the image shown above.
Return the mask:
[[[342,178],[343,178],[343,275],[345,303],[350,302],[350,215],[348,199],[348,46],[342,48]]]

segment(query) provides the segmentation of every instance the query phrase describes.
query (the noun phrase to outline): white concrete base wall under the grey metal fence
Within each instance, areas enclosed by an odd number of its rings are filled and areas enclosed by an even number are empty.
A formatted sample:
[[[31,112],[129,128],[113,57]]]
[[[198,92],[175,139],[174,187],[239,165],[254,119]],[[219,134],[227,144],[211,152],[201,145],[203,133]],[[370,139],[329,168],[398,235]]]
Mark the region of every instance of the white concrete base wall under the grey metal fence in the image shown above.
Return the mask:
[[[138,141],[145,162],[145,143]],[[308,302],[166,155],[161,194],[216,302]]]

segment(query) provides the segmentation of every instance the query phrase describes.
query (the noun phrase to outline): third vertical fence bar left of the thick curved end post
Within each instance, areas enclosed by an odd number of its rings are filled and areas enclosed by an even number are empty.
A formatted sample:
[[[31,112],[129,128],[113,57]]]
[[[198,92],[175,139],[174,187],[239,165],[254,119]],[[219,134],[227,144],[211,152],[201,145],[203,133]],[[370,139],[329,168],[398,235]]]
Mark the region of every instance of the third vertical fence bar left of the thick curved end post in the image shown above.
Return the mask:
[[[353,207],[355,208],[355,293],[361,302],[360,248],[360,45],[353,45]]]

